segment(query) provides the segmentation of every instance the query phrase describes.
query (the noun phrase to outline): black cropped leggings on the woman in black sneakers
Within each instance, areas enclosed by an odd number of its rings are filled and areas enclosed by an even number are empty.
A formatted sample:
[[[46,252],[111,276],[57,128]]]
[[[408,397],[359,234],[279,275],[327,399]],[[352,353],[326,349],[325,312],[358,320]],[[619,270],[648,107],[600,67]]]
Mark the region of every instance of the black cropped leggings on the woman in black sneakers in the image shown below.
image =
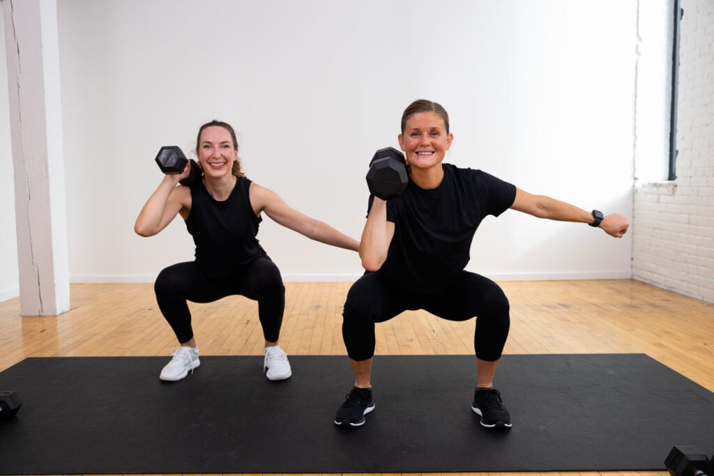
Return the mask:
[[[462,271],[448,288],[433,294],[404,290],[379,271],[363,275],[350,288],[342,313],[347,355],[353,360],[372,358],[374,324],[404,310],[417,309],[448,320],[476,316],[476,357],[491,362],[501,358],[511,326],[508,298],[492,280],[468,271]]]

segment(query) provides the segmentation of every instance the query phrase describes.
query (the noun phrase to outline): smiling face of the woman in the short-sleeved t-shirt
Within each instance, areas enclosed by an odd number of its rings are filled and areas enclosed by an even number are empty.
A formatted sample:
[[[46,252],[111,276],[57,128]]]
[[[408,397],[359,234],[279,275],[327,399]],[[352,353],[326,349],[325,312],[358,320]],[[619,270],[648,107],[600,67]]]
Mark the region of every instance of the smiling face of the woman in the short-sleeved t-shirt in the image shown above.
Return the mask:
[[[432,111],[410,116],[399,134],[399,145],[409,165],[421,169],[441,164],[452,140],[443,118]]]

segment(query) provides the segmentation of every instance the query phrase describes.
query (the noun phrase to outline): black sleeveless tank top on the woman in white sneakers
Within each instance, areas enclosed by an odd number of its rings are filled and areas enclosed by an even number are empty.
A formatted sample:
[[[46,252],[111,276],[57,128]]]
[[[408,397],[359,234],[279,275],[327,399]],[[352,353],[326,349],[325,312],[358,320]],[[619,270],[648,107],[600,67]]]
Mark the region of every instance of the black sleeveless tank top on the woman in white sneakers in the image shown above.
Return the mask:
[[[238,177],[231,195],[217,201],[202,180],[191,185],[186,228],[196,243],[196,263],[208,278],[236,275],[243,265],[267,256],[256,238],[262,218],[253,213],[250,187],[248,178]]]

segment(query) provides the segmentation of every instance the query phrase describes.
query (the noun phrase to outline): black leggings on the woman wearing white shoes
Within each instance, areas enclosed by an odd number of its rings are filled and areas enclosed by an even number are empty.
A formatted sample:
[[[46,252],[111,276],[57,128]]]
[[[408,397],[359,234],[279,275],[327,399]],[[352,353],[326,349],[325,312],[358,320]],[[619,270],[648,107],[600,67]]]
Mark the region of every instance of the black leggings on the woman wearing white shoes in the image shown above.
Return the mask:
[[[243,295],[258,301],[258,319],[263,337],[276,342],[280,336],[285,310],[285,286],[280,270],[270,258],[257,258],[236,270],[231,278],[209,279],[195,261],[178,263],[159,273],[154,283],[156,302],[174,329],[179,343],[193,338],[191,311],[193,303],[212,303],[228,295]]]

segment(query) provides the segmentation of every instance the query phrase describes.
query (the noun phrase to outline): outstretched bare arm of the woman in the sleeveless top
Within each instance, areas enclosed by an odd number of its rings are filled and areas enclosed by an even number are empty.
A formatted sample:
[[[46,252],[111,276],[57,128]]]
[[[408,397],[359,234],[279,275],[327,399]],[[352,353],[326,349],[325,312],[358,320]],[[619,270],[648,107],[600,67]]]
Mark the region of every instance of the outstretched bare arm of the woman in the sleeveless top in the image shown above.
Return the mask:
[[[332,228],[327,223],[311,218],[297,211],[286,203],[277,193],[268,188],[251,183],[251,204],[253,211],[259,215],[264,211],[271,220],[292,231],[296,231],[312,240],[326,245],[345,248],[346,250],[359,250],[359,243],[341,231]]]

